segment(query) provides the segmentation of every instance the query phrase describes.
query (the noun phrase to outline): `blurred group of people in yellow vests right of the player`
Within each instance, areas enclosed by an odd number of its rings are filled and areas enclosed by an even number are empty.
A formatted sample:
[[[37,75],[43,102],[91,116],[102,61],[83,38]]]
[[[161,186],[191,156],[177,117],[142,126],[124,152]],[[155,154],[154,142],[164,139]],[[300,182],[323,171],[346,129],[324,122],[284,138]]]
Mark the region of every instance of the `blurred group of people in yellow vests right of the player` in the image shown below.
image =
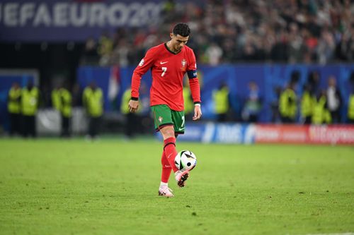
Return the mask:
[[[248,95],[241,104],[239,114],[232,107],[231,89],[222,83],[212,94],[216,121],[257,123],[260,122],[261,115],[264,116],[264,110],[270,109],[271,123],[354,123],[354,90],[348,98],[343,98],[335,76],[326,78],[326,88],[320,88],[321,78],[318,71],[310,72],[303,87],[299,88],[299,77],[299,71],[293,71],[285,88],[275,87],[276,99],[269,104],[270,107],[263,102],[258,84],[251,80]],[[348,84],[354,88],[354,72],[351,73]]]

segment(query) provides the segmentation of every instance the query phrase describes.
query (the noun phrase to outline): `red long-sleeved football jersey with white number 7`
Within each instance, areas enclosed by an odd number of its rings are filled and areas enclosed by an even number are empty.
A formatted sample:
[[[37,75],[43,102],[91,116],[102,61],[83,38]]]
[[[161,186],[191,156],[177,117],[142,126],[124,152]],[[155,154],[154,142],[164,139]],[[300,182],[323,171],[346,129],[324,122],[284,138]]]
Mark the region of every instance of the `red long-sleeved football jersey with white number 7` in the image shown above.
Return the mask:
[[[167,104],[170,109],[183,111],[183,77],[188,73],[193,101],[200,102],[200,86],[196,72],[195,55],[184,46],[174,54],[166,43],[147,51],[132,75],[132,97],[139,97],[140,80],[149,68],[152,70],[150,105]]]

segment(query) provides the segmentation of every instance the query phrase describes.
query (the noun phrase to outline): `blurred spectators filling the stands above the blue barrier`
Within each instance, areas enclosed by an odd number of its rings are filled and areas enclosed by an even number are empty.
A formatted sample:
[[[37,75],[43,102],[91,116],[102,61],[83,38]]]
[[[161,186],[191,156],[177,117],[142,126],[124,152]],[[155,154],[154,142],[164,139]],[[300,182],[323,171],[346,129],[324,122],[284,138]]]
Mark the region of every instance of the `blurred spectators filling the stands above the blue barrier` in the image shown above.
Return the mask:
[[[149,28],[118,28],[86,41],[81,64],[136,65],[149,47],[169,40],[185,22],[198,63],[354,61],[354,4],[350,0],[208,0],[164,2]]]

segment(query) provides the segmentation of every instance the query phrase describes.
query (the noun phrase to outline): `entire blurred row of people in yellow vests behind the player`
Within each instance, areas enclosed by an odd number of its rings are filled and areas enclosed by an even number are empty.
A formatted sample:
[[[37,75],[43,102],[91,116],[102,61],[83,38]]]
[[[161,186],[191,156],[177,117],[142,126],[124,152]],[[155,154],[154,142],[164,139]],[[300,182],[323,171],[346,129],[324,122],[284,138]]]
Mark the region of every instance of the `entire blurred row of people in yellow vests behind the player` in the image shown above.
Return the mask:
[[[354,88],[354,72],[349,78],[350,86]],[[293,71],[287,87],[275,89],[277,98],[275,102],[265,107],[258,84],[251,80],[248,85],[248,95],[241,112],[235,112],[232,107],[233,98],[227,83],[220,83],[219,88],[212,91],[213,121],[232,122],[242,121],[246,123],[261,122],[264,109],[271,109],[272,123],[304,123],[313,125],[354,123],[354,89],[348,100],[343,99],[341,90],[337,87],[337,78],[329,76],[327,87],[321,89],[320,76],[317,71],[312,71],[307,77],[303,88],[298,89],[299,71]],[[298,92],[301,90],[301,92]],[[137,114],[129,112],[127,102],[130,100],[130,88],[123,92],[120,102],[120,114],[122,119],[122,132],[127,138],[132,138],[136,133],[152,131],[152,118],[149,116],[149,101],[142,98],[141,107]],[[103,107],[103,90],[92,81],[81,93],[82,107],[88,121],[86,137],[95,139],[101,133],[101,123],[106,122],[107,116]],[[60,136],[72,135],[72,107],[73,93],[65,85],[59,85],[51,92],[52,108],[60,116]],[[193,116],[193,101],[190,95],[188,83],[183,88],[183,100],[185,102],[185,116],[190,120]],[[146,101],[146,102],[145,102]],[[38,109],[43,102],[40,90],[30,81],[21,88],[18,83],[13,83],[8,91],[7,107],[10,119],[10,135],[23,135],[23,137],[36,137],[36,118]],[[344,105],[344,104],[348,105]],[[143,110],[145,108],[147,110]],[[264,116],[264,114],[263,114]],[[105,121],[104,121],[105,120]]]

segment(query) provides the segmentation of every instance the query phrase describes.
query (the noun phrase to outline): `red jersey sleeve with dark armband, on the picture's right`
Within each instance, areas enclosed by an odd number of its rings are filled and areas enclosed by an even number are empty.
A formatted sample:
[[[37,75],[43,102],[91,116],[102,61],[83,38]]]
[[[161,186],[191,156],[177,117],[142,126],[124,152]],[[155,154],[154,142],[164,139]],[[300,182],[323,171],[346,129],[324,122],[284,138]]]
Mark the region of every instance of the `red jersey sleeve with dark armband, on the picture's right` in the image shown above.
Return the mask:
[[[197,77],[197,62],[192,49],[190,49],[189,59],[190,63],[188,64],[187,74],[189,78],[190,93],[192,94],[194,104],[200,104],[200,85]]]

